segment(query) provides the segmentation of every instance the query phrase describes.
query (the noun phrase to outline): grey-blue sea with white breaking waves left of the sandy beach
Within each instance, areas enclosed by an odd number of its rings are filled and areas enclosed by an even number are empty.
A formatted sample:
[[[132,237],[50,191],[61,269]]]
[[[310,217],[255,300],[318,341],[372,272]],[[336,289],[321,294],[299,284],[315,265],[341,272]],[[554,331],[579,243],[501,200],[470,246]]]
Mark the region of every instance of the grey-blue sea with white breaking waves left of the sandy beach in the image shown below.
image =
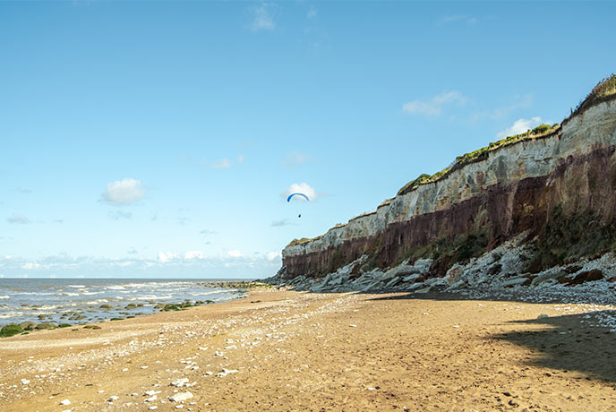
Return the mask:
[[[102,322],[156,313],[160,304],[226,302],[245,290],[207,284],[241,280],[252,279],[0,279],[0,326]]]

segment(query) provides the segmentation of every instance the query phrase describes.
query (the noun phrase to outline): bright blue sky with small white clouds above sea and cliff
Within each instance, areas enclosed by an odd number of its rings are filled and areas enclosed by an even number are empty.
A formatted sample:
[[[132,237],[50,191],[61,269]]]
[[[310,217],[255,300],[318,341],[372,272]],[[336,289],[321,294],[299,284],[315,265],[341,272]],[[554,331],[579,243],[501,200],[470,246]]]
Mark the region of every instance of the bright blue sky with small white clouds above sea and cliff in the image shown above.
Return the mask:
[[[614,16],[0,0],[0,277],[272,276],[294,238],[559,123],[616,70]]]

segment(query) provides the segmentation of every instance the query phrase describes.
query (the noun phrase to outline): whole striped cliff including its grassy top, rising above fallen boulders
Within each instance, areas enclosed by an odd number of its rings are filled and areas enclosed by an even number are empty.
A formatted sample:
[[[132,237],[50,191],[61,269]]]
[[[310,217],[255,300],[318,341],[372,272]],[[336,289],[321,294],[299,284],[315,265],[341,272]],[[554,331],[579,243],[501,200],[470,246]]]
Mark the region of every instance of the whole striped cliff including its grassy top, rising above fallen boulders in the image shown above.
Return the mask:
[[[614,92],[612,75],[562,124],[469,153],[372,213],[291,242],[278,279],[323,278],[343,267],[353,278],[422,259],[430,262],[423,276],[438,278],[520,235],[528,253],[518,269],[529,273],[612,250]]]

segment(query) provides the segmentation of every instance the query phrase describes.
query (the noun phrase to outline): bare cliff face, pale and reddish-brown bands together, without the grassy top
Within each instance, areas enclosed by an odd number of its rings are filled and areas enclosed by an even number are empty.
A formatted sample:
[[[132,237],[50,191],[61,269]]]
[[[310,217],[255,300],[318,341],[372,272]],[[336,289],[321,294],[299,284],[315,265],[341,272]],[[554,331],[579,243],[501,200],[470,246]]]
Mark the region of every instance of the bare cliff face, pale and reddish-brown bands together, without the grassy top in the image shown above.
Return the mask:
[[[285,278],[321,276],[363,254],[380,267],[409,251],[475,236],[482,251],[528,231],[541,235],[559,210],[616,225],[616,100],[570,118],[556,133],[488,152],[447,177],[400,194],[312,241],[287,246]],[[441,275],[452,264],[436,260]]]

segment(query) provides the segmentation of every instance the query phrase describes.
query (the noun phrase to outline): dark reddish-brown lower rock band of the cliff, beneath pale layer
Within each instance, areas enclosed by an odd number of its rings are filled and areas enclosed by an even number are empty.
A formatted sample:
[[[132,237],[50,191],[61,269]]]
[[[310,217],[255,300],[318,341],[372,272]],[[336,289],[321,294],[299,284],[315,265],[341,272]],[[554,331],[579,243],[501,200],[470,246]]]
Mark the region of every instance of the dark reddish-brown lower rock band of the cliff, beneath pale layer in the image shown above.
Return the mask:
[[[372,236],[346,240],[319,252],[284,256],[284,276],[321,276],[363,254],[370,256],[372,264],[387,267],[409,251],[473,234],[487,238],[486,245],[482,245],[487,251],[526,230],[530,236],[542,236],[555,208],[565,216],[585,214],[594,219],[595,225],[614,226],[615,150],[614,146],[597,145],[586,154],[561,159],[547,176],[491,185],[449,209],[391,223]],[[441,259],[436,263],[434,275],[443,274],[451,262]]]

